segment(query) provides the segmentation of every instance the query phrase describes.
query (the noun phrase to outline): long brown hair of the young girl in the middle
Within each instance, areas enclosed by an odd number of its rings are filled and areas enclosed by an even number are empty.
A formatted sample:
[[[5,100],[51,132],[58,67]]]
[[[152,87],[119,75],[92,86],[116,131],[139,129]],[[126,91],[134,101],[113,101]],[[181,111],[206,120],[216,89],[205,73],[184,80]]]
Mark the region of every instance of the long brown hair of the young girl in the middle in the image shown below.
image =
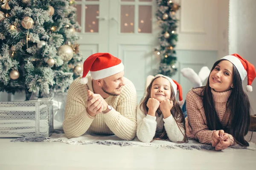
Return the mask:
[[[161,77],[161,76],[160,76]],[[157,79],[159,77],[156,77],[154,78],[150,84],[148,85],[148,88],[147,88],[147,95],[145,96],[143,102],[141,102],[140,104],[140,109],[143,108],[143,111],[145,113],[145,115],[148,114],[148,106],[147,106],[147,102],[148,102],[148,99],[150,98],[151,96],[151,88],[152,88],[152,85],[153,85],[153,82],[155,79]],[[165,77],[163,77],[165,78]],[[166,78],[165,78],[166,79]],[[169,81],[169,80],[168,80]],[[181,110],[179,104],[177,103],[176,99],[175,99],[175,93],[174,93],[174,90],[172,88],[172,85],[171,86],[171,98],[170,100],[173,101],[173,107],[171,109],[171,113],[172,113],[172,116],[175,118],[175,122],[177,123],[179,129],[180,129],[180,126],[183,127],[183,129],[185,130],[185,134],[183,134],[184,136],[184,139],[183,141],[180,141],[180,142],[187,142],[187,137],[186,137],[186,129],[185,129],[185,116],[183,114],[183,111]],[[142,106],[142,108],[141,108]],[[157,114],[160,115],[162,114],[162,112],[160,111],[160,109],[157,109]],[[182,130],[180,129],[180,131],[182,132]],[[182,132],[183,133],[183,132]],[[161,133],[156,133],[155,136],[154,136],[154,139],[168,139],[168,136],[167,136],[167,133],[166,133],[166,130],[165,128],[163,127],[163,131]]]

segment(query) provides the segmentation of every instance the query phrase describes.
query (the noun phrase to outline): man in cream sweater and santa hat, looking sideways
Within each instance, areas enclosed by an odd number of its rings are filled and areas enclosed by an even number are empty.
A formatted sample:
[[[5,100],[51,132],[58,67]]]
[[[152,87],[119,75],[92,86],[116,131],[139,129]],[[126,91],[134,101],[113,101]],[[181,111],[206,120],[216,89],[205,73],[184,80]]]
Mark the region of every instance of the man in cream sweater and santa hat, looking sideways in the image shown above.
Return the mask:
[[[122,61],[111,54],[96,53],[84,61],[83,76],[72,82],[67,94],[63,129],[68,138],[89,132],[134,139],[137,94],[123,76]]]

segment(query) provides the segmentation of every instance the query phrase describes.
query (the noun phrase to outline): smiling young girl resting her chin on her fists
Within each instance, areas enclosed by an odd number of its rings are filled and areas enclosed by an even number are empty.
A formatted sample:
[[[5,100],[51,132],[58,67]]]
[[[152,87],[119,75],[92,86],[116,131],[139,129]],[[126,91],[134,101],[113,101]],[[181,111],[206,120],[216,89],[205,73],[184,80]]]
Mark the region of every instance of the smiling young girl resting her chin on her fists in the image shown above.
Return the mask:
[[[185,141],[185,117],[175,100],[177,90],[182,100],[182,89],[177,82],[161,74],[152,79],[137,108],[137,137],[140,141],[168,138],[172,142]]]

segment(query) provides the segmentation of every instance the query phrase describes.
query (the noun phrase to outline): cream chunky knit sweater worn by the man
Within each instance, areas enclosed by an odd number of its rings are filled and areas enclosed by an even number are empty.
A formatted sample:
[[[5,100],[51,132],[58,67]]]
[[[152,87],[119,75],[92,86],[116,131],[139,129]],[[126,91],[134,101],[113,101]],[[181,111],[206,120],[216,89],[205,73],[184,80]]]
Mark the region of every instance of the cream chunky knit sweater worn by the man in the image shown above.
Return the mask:
[[[85,132],[102,135],[115,134],[121,139],[132,140],[136,135],[137,94],[133,83],[124,77],[119,96],[108,96],[105,101],[112,106],[108,113],[90,116],[87,113],[87,90],[93,91],[92,78],[80,84],[81,77],[75,79],[67,94],[63,130],[68,138],[78,137]]]

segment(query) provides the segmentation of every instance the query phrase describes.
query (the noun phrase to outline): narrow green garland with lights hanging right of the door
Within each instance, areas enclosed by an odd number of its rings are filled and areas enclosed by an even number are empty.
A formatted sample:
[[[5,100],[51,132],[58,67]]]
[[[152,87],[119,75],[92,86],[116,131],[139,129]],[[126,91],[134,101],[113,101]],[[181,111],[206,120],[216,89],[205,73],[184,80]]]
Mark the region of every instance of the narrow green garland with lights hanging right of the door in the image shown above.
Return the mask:
[[[154,48],[155,55],[161,59],[157,73],[171,77],[177,71],[175,68],[175,46],[178,37],[176,11],[180,6],[174,0],[157,0],[157,5],[157,22],[162,29],[158,37],[160,45]]]

